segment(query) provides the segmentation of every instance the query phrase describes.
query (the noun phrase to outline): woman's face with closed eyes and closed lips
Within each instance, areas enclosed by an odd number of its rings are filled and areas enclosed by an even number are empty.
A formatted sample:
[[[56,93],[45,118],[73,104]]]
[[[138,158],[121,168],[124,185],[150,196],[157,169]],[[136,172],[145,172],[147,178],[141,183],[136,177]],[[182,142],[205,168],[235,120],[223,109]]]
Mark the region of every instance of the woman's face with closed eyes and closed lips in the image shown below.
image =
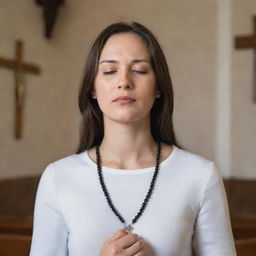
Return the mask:
[[[104,122],[148,121],[158,93],[147,47],[138,35],[121,33],[107,40],[94,89]],[[133,100],[116,100],[120,96]]]

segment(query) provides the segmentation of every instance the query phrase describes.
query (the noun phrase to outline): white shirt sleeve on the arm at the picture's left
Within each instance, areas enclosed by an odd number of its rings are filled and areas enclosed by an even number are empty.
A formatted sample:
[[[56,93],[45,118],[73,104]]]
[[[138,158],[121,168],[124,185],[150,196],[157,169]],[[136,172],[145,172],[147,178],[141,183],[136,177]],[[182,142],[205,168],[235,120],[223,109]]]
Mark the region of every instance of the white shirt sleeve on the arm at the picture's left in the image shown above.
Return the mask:
[[[43,172],[36,195],[30,256],[67,256],[68,229],[58,202],[51,164]]]

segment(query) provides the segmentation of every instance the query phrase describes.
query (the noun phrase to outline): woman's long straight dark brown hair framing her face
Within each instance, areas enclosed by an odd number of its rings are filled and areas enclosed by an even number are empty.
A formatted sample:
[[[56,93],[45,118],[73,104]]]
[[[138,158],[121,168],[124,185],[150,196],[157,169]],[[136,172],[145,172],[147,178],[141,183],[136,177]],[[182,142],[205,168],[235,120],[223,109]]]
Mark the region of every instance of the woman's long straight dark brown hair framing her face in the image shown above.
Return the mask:
[[[137,22],[131,24],[120,22],[109,25],[99,34],[85,63],[78,99],[79,109],[83,118],[77,154],[100,144],[103,139],[103,115],[97,100],[92,98],[94,80],[98,71],[100,55],[108,38],[114,34],[127,32],[139,35],[145,42],[156,77],[156,87],[161,92],[161,97],[156,98],[151,109],[152,136],[156,141],[180,147],[173,128],[173,89],[163,51],[154,35],[146,27]]]

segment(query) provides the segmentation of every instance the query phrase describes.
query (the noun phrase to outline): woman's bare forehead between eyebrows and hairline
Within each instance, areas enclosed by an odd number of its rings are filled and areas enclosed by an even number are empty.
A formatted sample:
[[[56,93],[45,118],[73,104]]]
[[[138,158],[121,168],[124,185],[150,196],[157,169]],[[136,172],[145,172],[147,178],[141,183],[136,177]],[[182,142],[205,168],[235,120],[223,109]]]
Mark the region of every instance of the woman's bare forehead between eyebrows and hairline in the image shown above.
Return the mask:
[[[146,58],[149,60],[150,56],[143,39],[135,33],[126,32],[112,35],[105,43],[100,60],[110,57]]]

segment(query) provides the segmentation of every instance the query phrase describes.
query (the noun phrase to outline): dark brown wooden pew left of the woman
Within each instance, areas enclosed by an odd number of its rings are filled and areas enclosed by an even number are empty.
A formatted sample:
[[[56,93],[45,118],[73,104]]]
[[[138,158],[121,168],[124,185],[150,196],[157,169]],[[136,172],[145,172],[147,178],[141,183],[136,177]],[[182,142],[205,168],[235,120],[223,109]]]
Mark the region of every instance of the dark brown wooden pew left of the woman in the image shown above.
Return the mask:
[[[37,177],[0,180],[0,256],[28,256]]]

